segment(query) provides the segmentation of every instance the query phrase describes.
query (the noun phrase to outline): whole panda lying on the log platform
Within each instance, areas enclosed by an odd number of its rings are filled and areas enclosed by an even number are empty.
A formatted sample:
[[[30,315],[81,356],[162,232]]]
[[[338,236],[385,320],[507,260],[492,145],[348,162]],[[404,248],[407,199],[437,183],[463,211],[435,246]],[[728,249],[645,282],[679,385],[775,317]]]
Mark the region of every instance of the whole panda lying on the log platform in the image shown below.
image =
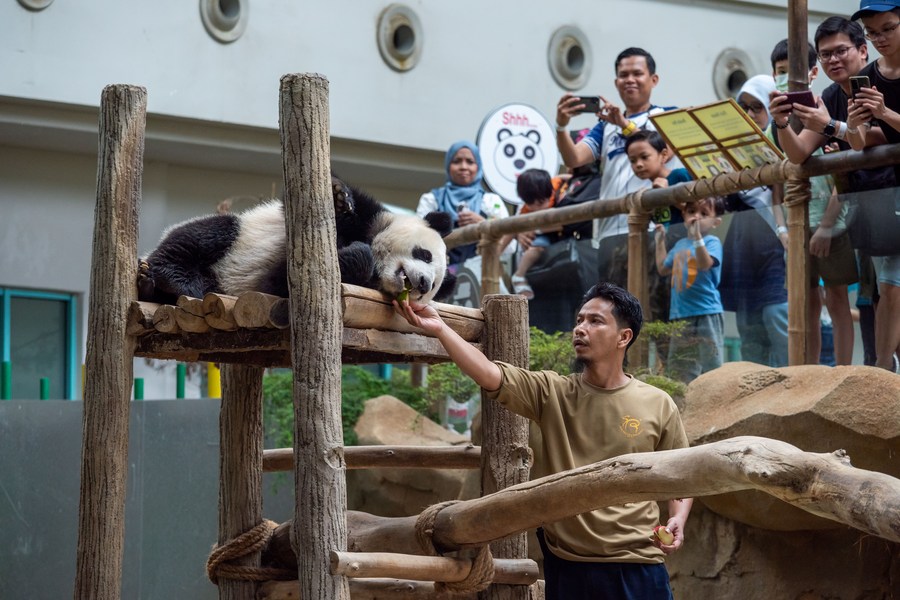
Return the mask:
[[[443,237],[447,213],[424,219],[388,211],[332,177],[341,281],[425,304],[453,291]],[[272,200],[240,214],[197,217],[163,232],[140,260],[138,299],[175,304],[178,296],[257,291],[288,295],[284,207]]]

